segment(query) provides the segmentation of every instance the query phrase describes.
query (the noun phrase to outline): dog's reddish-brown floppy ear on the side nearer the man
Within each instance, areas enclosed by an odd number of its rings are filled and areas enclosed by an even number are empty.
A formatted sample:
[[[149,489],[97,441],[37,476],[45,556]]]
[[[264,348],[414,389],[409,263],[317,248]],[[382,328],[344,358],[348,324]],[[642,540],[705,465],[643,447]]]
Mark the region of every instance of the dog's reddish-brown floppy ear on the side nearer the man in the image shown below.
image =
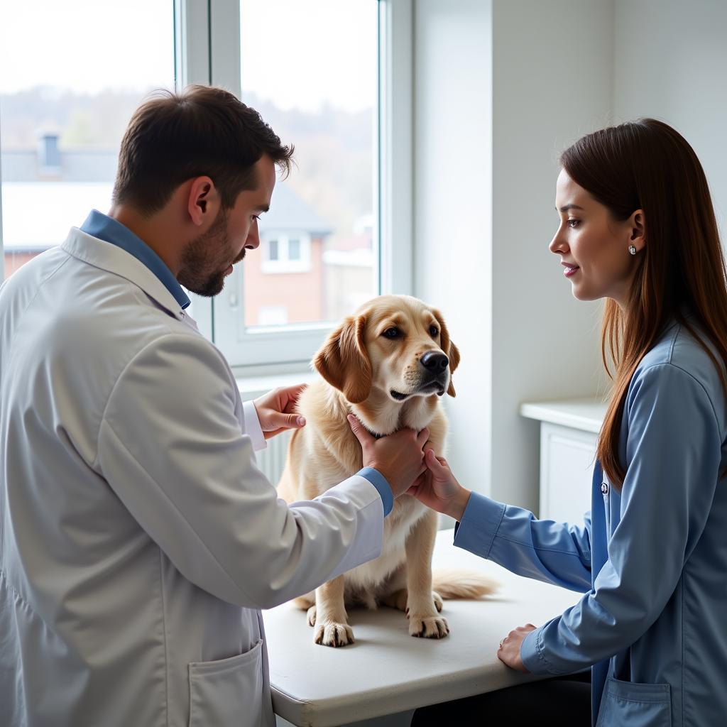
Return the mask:
[[[313,366],[352,404],[371,393],[371,361],[364,345],[366,316],[350,316],[329,335],[313,358]]]

